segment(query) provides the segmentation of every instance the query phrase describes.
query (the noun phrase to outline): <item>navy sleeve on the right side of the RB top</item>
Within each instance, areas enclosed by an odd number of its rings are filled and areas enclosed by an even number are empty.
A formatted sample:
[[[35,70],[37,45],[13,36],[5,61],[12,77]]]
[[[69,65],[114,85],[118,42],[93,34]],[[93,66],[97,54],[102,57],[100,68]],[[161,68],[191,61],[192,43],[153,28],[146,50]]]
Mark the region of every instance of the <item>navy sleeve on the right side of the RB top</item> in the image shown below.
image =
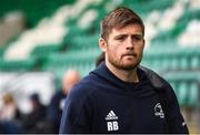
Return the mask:
[[[168,92],[167,98],[168,101],[168,128],[169,128],[169,133],[176,133],[176,134],[189,134],[187,124],[181,115],[180,108],[179,108],[179,104],[178,104],[178,100],[177,96],[174,94],[173,89],[170,86],[170,84],[168,85]]]

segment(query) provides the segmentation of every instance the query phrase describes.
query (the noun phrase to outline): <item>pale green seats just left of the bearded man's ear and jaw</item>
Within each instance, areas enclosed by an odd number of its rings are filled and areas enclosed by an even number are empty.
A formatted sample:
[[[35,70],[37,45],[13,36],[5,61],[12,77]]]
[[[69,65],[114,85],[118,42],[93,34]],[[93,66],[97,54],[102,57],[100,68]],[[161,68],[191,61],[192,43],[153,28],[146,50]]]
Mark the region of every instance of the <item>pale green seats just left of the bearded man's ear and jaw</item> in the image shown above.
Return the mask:
[[[77,69],[81,76],[84,76],[94,68],[99,54],[100,50],[98,48],[69,50],[67,53],[50,54],[41,69],[54,72],[58,80],[61,80],[62,73],[71,68]]]

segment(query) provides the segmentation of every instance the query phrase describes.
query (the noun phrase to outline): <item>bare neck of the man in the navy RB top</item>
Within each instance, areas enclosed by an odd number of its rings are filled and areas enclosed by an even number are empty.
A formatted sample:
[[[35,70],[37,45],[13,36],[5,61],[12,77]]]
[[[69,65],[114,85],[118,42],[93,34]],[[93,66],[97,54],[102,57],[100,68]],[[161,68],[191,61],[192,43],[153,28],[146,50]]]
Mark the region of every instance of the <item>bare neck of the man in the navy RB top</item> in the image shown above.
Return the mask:
[[[118,69],[118,68],[113,66],[112,64],[110,64],[107,61],[106,61],[106,65],[118,79],[120,79],[124,82],[134,82],[134,83],[139,82],[139,77],[137,74],[137,68],[134,68],[133,70],[122,70],[122,69]]]

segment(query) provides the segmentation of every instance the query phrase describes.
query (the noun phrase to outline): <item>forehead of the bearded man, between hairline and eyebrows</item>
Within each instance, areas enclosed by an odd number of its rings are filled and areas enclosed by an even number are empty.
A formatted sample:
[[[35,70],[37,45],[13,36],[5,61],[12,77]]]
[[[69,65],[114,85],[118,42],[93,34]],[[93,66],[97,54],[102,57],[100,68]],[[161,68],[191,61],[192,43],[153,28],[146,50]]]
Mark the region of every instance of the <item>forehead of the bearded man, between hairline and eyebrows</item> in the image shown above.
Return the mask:
[[[123,28],[113,28],[110,32],[110,37],[116,37],[120,34],[138,34],[142,35],[142,28],[140,24],[129,24]]]

